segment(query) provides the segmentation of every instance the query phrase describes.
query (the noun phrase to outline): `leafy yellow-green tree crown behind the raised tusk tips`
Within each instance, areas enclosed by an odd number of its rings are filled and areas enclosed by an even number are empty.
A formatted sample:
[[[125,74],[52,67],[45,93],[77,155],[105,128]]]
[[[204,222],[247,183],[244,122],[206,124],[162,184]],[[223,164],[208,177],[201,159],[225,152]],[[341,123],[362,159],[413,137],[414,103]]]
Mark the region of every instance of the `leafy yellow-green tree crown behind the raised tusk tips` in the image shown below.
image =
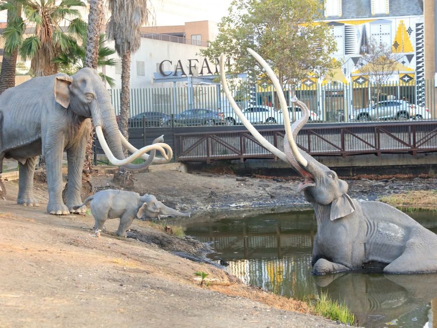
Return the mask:
[[[223,52],[230,73],[261,71],[247,52],[258,52],[282,84],[324,76],[339,63],[331,57],[337,46],[331,27],[323,23],[319,0],[234,0],[218,24],[218,35],[201,53],[215,61]]]

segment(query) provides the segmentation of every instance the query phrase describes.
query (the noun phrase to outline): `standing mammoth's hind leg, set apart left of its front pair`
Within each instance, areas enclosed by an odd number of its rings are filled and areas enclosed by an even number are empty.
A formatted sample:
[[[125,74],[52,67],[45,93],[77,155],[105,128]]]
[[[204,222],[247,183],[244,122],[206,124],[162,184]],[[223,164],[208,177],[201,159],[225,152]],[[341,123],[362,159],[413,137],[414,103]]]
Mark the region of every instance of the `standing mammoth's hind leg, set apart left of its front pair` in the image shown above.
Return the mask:
[[[25,206],[39,206],[38,200],[33,196],[33,176],[37,160],[38,156],[29,157],[24,164],[19,162],[20,179],[18,181],[17,198],[17,203],[19,204]]]

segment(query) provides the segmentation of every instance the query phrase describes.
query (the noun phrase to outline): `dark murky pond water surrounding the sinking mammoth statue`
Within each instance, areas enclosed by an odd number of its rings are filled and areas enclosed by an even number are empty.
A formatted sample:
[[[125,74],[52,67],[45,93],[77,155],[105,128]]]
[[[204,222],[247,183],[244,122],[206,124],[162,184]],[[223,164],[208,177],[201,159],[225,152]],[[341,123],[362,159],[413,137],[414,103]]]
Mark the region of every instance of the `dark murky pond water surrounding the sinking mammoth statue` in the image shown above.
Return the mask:
[[[437,233],[435,212],[409,214]],[[215,253],[209,257],[227,261],[227,270],[247,284],[298,299],[327,292],[333,299],[345,301],[366,327],[384,327],[391,322],[398,327],[421,328],[428,321],[433,298],[437,316],[437,274],[312,276],[311,251],[317,231],[312,211],[181,223],[187,235],[212,242]]]

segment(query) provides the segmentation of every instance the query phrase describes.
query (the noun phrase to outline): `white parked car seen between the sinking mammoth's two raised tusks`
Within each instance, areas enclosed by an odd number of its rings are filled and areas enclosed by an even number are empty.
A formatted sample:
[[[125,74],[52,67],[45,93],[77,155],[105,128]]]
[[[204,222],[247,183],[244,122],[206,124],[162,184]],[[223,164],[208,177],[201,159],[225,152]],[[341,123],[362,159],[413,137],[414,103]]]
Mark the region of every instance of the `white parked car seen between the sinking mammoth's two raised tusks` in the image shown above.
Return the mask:
[[[256,106],[249,106],[242,110],[243,115],[246,117],[246,119],[249,120],[252,124],[276,124],[280,120],[282,120],[281,115],[279,112],[275,111],[275,109],[271,106],[266,105],[256,105]],[[230,110],[226,111],[224,113],[225,116],[225,124],[226,125],[236,125],[241,124],[240,119],[238,116],[234,113],[232,108]]]

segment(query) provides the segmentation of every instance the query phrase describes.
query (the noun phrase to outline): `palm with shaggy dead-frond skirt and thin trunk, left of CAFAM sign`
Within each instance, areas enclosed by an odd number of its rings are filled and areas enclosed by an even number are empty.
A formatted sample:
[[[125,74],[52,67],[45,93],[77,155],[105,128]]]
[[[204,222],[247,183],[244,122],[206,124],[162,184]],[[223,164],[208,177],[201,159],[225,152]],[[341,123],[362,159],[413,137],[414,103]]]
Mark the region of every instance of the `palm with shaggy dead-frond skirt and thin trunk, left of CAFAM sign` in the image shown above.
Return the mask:
[[[112,16],[106,26],[106,36],[114,40],[116,51],[122,58],[120,131],[128,139],[131,53],[140,48],[140,28],[147,23],[150,11],[145,0],[108,0],[108,5]]]

